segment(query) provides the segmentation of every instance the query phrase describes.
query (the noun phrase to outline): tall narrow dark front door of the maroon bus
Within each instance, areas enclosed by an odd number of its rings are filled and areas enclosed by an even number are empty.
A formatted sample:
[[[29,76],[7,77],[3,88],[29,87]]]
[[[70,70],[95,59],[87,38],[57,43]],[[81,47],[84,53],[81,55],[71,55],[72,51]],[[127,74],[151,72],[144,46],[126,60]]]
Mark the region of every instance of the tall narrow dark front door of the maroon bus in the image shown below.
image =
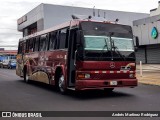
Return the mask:
[[[67,80],[69,87],[75,86],[76,31],[77,29],[70,29],[70,34],[69,34],[68,58],[67,58]]]

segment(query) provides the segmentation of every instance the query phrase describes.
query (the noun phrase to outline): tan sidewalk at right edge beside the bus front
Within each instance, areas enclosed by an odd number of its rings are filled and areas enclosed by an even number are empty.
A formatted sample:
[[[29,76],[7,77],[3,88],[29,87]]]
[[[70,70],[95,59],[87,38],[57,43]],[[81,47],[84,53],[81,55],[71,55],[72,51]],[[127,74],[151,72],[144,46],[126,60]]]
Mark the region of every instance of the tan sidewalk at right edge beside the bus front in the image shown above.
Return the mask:
[[[136,71],[139,83],[160,86],[160,64],[142,64],[142,76],[140,76],[139,64]]]

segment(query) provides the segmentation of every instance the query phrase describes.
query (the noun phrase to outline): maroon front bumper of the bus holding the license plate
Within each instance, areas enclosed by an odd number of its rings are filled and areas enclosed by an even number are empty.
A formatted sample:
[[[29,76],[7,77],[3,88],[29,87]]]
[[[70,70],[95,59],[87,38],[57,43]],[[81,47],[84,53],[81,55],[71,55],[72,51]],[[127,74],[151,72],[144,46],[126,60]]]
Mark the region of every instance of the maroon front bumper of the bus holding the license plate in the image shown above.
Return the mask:
[[[116,87],[136,87],[137,79],[118,79],[118,80],[76,80],[76,90],[104,89]]]

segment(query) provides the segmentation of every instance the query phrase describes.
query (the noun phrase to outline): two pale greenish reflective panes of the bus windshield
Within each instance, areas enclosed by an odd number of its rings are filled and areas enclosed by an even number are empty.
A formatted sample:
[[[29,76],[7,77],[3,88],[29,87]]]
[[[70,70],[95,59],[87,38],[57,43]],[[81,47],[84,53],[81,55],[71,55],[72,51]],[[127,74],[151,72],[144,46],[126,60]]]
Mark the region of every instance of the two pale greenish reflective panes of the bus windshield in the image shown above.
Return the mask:
[[[111,37],[114,42],[114,47],[118,51],[134,51],[133,42],[131,38]],[[85,35],[85,50],[111,50],[110,38],[107,36],[93,36]]]

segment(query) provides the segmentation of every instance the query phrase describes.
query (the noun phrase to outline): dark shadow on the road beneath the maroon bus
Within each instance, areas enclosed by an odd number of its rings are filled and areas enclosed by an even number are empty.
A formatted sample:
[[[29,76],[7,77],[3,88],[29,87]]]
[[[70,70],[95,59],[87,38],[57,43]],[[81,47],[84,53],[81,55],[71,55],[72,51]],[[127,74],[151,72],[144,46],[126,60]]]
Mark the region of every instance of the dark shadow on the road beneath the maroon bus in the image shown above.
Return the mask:
[[[61,94],[56,87],[41,82],[30,81],[29,83],[25,83],[23,80],[18,80],[18,82],[38,87],[40,89],[44,89],[49,92],[54,92],[55,94]],[[106,92],[104,90],[85,90],[85,91],[68,90],[67,94],[63,96],[68,96],[75,99],[87,100],[87,99],[98,99],[98,98],[132,97],[134,95],[124,92],[119,92],[115,89],[113,92]]]

